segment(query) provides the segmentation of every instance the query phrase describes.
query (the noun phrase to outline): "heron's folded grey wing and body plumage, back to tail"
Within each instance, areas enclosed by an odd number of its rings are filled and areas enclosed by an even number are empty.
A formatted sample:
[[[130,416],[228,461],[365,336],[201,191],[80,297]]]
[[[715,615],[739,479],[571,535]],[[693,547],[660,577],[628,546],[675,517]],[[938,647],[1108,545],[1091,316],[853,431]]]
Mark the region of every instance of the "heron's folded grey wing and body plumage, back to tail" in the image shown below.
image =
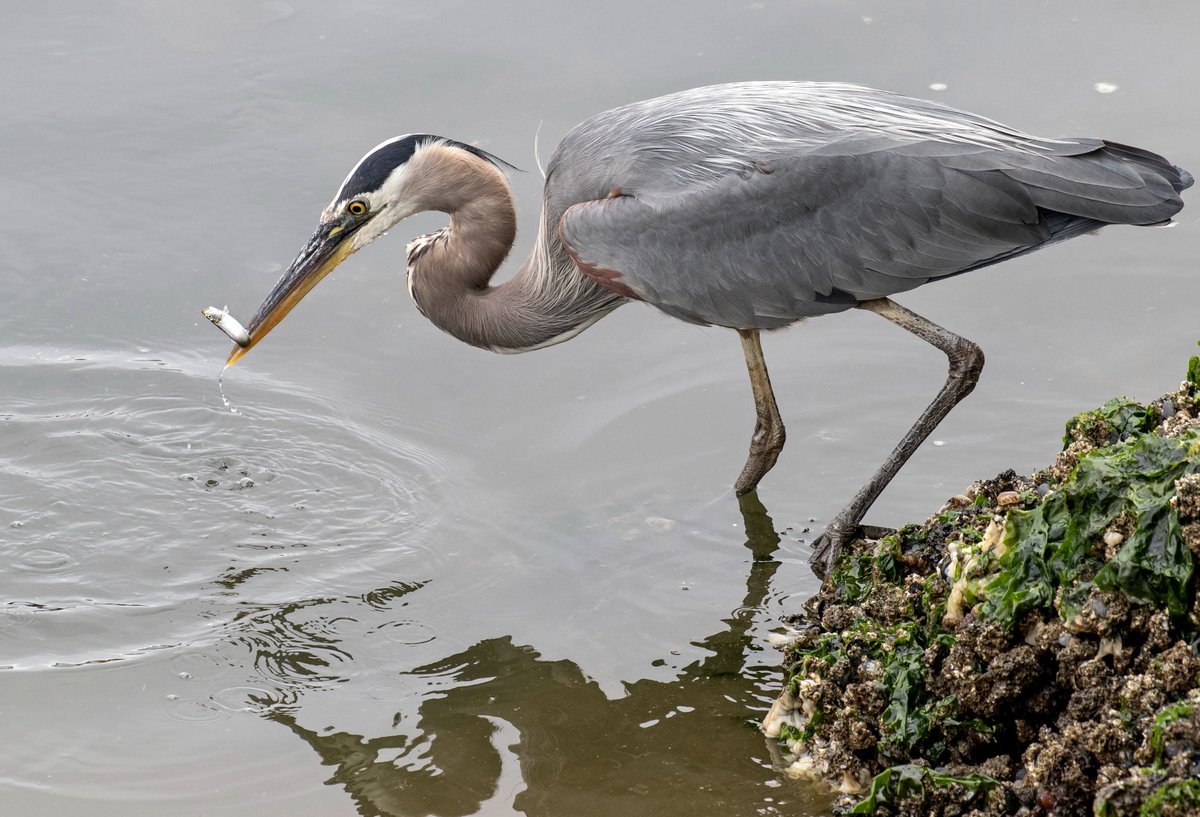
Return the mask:
[[[767,90],[779,96],[778,85]],[[877,95],[902,121],[886,106],[881,114],[876,97],[871,121],[883,125],[865,127],[828,107],[797,114],[785,94],[778,110],[761,100],[750,113],[684,104],[692,127],[680,125],[678,103],[659,112],[670,127],[648,127],[653,109],[637,112],[641,122],[624,109],[593,122],[590,140],[564,142],[580,158],[576,173],[594,176],[594,194],[581,197],[589,200],[562,210],[565,247],[598,282],[668,314],[769,329],[1106,223],[1162,222],[1182,206],[1186,174],[1153,154],[1037,139],[934,103],[850,90]],[[664,101],[642,104],[654,102]]]

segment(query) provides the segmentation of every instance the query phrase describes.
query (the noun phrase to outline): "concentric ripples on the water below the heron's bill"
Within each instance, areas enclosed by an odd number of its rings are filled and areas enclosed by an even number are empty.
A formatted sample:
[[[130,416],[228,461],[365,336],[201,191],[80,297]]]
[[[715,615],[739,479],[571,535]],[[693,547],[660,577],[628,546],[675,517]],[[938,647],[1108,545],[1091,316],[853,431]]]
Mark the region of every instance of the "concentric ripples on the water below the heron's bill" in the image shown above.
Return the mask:
[[[433,453],[250,370],[226,384],[232,414],[217,373],[181,355],[0,349],[0,663],[211,642],[232,605],[358,595],[420,563],[444,506]]]

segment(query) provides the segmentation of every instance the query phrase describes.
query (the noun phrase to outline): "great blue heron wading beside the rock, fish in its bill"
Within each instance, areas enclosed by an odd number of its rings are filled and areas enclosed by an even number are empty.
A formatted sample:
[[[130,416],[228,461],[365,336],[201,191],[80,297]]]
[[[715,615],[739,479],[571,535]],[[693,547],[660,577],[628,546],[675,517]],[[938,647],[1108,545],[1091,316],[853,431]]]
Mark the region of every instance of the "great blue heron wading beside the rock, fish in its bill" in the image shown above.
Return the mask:
[[[562,343],[629,300],[742,337],[757,422],[734,486],[784,446],[762,330],[858,307],[932,343],[949,374],[829,523],[829,563],[934,427],[974,388],[983,353],[888,296],[1090,233],[1159,224],[1192,176],[1100,139],[1044,139],[946,106],[844,84],[713,85],[592,116],[554,151],[529,258],[492,275],[516,235],[491,154],[389,139],[359,161],[250,323],[233,364],[350,253],[413,214],[450,224],[408,245],[408,290],[446,332],[494,352]]]

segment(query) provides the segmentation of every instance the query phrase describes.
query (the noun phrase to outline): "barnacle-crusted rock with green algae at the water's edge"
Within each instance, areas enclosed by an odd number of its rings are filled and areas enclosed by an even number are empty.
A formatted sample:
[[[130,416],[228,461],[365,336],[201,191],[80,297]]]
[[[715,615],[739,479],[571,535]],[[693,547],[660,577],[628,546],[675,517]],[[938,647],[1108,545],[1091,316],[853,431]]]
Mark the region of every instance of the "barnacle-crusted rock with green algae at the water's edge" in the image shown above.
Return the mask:
[[[1200,360],[854,542],[764,722],[842,813],[1200,817]]]

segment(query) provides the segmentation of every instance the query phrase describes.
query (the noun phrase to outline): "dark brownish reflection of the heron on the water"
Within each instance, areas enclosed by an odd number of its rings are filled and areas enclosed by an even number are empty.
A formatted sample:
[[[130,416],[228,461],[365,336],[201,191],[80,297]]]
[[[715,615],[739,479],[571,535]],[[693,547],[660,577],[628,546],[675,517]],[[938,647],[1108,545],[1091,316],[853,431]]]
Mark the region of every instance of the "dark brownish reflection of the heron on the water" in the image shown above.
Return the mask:
[[[710,654],[671,681],[638,680],[610,699],[572,662],[542,660],[505,637],[413,671],[454,683],[420,705],[415,735],[318,732],[282,708],[268,716],[335,768],[329,782],[362,815],[473,815],[498,795],[506,812],[512,794],[498,792],[493,745],[500,721],[520,735],[509,750],[523,789],[511,806],[527,815],[821,813],[821,793],[780,785],[754,722],[774,671],[748,667],[761,649],[749,631],[779,566],[780,537],[755,495],[742,511],[752,554],[745,599],[726,629],[698,643]]]

